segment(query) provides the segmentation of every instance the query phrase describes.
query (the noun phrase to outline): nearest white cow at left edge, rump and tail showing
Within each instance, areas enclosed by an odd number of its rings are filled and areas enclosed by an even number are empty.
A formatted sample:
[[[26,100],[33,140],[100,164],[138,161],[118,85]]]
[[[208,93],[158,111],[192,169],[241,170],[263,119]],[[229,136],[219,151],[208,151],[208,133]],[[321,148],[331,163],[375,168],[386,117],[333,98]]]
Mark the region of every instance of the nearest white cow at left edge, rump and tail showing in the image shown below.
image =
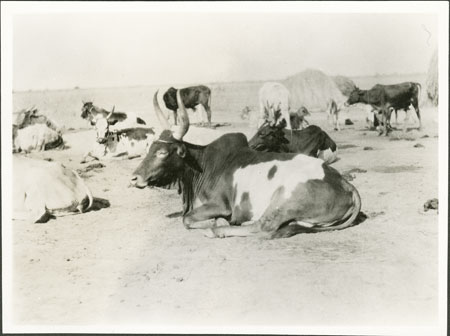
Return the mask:
[[[13,155],[13,218],[44,223],[52,216],[91,208],[91,191],[72,169],[58,162]]]

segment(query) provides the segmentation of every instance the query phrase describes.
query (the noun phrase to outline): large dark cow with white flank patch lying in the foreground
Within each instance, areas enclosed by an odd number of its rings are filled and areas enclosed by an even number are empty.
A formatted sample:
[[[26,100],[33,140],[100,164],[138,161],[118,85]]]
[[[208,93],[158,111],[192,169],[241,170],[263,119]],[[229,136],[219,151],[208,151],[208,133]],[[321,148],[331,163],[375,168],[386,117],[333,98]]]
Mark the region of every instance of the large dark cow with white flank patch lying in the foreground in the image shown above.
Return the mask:
[[[203,229],[208,237],[271,239],[354,224],[359,193],[322,160],[252,150],[242,133],[225,134],[207,146],[187,143],[189,117],[179,93],[177,102],[180,127],[166,128],[153,142],[131,184],[163,187],[178,181],[187,229]],[[155,112],[164,119],[157,101]]]

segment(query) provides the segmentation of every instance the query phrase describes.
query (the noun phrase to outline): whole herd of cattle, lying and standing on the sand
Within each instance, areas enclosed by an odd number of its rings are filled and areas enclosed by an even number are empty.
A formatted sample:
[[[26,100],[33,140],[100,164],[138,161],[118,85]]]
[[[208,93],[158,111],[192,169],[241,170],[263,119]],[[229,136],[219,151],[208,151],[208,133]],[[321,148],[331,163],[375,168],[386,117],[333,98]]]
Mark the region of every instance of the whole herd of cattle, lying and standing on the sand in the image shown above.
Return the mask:
[[[407,112],[412,105],[420,122],[419,89],[411,82],[355,89],[342,106],[330,100],[327,116],[339,130],[343,108],[369,104],[373,119],[368,121],[380,134],[388,134],[392,111]],[[283,85],[266,83],[260,89],[258,128],[250,140],[242,133],[216,136],[206,145],[184,140],[190,128],[186,108],[205,112],[204,122],[211,126],[211,91],[206,86],[170,88],[163,101],[172,111],[173,123],[162,111],[157,91],[153,107],[160,127],[156,128],[131,113],[83,102],[81,117],[95,129],[96,142],[82,163],[145,156],[130,184],[177,187],[183,224],[202,229],[209,237],[281,238],[355,224],[361,198],[330,166],[337,159],[336,143],[320,127],[309,125],[305,107],[292,110]],[[13,218],[45,222],[53,215],[84,212],[92,206],[92,194],[77,172],[19,154],[63,147],[61,129],[35,108],[14,113]]]

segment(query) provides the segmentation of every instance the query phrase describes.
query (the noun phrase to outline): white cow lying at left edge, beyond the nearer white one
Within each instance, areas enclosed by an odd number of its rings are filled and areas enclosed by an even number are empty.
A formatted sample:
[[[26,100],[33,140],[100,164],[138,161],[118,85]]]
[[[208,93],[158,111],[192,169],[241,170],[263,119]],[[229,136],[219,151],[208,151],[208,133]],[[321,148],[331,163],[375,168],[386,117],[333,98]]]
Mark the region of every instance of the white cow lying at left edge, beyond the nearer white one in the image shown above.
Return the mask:
[[[64,148],[64,140],[59,132],[46,124],[37,123],[25,128],[13,125],[13,153],[57,148]]]

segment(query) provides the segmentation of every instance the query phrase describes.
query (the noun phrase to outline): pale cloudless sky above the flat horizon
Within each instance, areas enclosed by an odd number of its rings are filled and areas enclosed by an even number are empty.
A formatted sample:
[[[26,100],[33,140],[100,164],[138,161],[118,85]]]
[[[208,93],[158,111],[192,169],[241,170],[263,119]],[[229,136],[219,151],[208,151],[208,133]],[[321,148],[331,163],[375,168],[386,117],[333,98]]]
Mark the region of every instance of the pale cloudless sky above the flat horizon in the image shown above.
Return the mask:
[[[13,89],[426,72],[437,32],[433,14],[15,15]]]

